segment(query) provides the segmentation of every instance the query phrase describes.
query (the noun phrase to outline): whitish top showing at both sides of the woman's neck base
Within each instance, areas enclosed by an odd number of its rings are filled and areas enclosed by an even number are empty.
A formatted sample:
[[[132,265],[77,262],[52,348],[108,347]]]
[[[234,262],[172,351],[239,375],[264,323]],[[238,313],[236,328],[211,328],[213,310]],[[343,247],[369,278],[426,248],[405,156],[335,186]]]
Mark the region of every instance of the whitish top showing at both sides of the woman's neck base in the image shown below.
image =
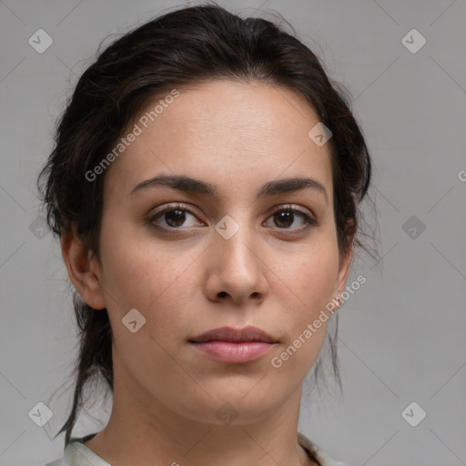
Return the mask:
[[[102,460],[100,456],[97,456],[94,451],[89,450],[84,445],[85,441],[92,439],[95,435],[96,433],[93,433],[79,439],[70,439],[71,441],[66,445],[63,458],[49,462],[45,466],[111,466],[110,463]],[[298,443],[308,451],[312,460],[319,462],[320,466],[347,466],[345,463],[334,461],[325,451],[320,450],[318,445],[309,441],[300,432],[298,432]]]

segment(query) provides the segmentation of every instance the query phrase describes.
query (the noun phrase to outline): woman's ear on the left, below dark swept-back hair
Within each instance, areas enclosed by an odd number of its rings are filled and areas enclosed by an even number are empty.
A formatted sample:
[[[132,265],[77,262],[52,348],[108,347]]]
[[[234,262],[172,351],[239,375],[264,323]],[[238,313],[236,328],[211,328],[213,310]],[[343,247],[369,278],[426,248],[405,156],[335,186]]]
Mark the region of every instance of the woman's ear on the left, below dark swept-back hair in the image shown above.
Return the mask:
[[[68,276],[81,298],[93,309],[106,308],[97,260],[91,259],[92,251],[78,238],[75,226],[62,230],[61,249]]]

